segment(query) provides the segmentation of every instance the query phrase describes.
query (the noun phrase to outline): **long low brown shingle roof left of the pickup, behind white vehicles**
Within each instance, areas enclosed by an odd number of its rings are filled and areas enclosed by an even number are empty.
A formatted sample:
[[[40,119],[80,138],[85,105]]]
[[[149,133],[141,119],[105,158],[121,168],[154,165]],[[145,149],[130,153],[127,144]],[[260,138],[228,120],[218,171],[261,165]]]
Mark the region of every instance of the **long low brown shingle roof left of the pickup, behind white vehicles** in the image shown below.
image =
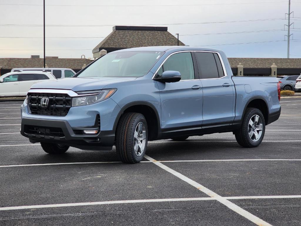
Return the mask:
[[[88,65],[92,60],[85,58],[57,58],[46,59],[48,67],[82,69],[84,64]],[[43,58],[0,58],[2,69],[43,67]]]

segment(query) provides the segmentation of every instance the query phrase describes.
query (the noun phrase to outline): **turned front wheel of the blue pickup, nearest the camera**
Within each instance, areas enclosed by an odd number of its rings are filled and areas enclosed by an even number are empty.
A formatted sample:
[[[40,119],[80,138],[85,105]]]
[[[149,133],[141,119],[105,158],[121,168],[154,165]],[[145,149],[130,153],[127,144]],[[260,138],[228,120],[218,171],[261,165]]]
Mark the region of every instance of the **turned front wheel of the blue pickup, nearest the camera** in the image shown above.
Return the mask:
[[[140,162],[147,147],[147,122],[140,113],[125,113],[117,124],[115,146],[122,162]]]

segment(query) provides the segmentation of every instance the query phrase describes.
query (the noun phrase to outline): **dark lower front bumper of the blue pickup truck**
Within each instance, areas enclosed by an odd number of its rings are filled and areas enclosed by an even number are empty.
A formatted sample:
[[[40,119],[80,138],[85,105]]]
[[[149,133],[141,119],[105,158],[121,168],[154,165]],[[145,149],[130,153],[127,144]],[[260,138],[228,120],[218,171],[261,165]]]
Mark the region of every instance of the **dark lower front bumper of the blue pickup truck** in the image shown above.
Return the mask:
[[[54,127],[61,128],[64,136],[48,136],[41,134],[31,134],[25,132],[26,126],[36,127]],[[115,131],[103,130],[98,134],[80,134],[77,135],[73,130],[78,129],[92,129],[92,127],[71,127],[67,121],[64,120],[49,120],[49,119],[35,119],[35,118],[22,118],[21,134],[28,137],[31,143],[47,142],[59,143],[71,147],[76,147],[82,150],[111,150],[114,145]]]

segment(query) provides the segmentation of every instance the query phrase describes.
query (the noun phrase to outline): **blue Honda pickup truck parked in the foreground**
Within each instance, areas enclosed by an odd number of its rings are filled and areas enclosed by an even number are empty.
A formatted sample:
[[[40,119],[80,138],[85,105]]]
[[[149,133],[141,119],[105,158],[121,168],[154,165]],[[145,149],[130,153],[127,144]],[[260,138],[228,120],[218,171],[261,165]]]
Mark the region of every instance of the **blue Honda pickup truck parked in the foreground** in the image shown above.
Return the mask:
[[[233,132],[256,147],[280,116],[275,77],[234,77],[224,52],[153,46],[110,52],[75,76],[37,83],[21,106],[21,134],[49,154],[72,146],[140,162],[147,141]]]

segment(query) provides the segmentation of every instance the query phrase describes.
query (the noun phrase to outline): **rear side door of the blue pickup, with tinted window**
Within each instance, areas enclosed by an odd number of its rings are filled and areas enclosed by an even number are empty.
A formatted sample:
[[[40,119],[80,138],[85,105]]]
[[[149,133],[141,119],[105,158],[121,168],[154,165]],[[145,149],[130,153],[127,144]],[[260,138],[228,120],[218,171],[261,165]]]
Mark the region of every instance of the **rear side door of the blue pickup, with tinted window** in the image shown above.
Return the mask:
[[[194,52],[203,85],[202,128],[229,125],[234,120],[235,89],[217,52]]]

